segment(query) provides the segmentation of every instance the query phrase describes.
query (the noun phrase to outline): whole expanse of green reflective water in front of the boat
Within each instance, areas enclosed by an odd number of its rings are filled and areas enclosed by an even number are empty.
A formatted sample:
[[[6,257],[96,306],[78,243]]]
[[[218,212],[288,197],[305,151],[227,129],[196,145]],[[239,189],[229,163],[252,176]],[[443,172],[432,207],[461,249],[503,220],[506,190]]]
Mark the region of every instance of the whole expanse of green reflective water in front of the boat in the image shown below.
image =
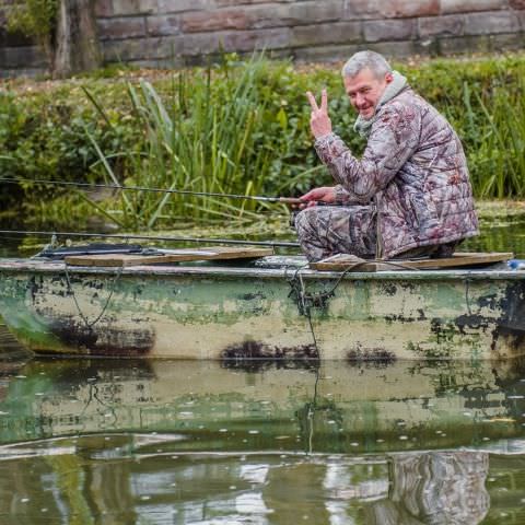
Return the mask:
[[[34,360],[0,522],[524,523],[520,363]]]

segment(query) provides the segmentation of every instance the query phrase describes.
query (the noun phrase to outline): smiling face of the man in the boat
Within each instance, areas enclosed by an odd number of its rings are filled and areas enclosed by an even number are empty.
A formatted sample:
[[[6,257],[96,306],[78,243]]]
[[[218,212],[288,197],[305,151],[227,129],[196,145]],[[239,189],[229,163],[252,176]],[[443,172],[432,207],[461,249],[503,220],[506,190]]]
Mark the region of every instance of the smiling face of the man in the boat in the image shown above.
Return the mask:
[[[370,69],[362,69],[355,77],[345,77],[345,90],[352,106],[362,118],[369,120],[374,116],[375,106],[386,86],[393,81],[392,73],[377,78]]]

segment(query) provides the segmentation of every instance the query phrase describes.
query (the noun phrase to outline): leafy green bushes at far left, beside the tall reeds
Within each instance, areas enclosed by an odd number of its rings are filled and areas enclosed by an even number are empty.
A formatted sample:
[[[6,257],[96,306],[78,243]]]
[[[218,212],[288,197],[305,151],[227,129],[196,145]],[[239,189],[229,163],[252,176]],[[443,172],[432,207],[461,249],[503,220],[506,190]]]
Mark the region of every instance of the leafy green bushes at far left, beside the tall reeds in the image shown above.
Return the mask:
[[[54,83],[45,83],[46,88]],[[44,85],[44,84],[43,84]],[[60,89],[0,92],[0,177],[24,179],[19,185],[0,184],[0,205],[3,210],[18,209],[18,215],[9,215],[10,222],[38,225],[59,220],[57,224],[69,226],[85,222],[88,207],[67,207],[61,198],[71,194],[71,188],[59,188],[32,183],[33,179],[88,180],[93,182],[91,166],[97,162],[96,152],[86,137],[86,130],[104,148],[115,151],[137,141],[135,131],[121,122],[118,100],[122,90],[96,86],[105,91],[115,103],[109,112],[115,121],[110,128],[101,126],[96,110],[91,106],[80,86],[71,83]],[[27,182],[30,180],[30,182]],[[56,199],[59,199],[54,203]],[[81,202],[77,199],[75,202]],[[61,205],[60,205],[61,203]],[[69,214],[66,210],[69,210]],[[77,214],[77,217],[73,217]],[[4,215],[5,218],[5,215]],[[67,222],[63,222],[67,221]]]

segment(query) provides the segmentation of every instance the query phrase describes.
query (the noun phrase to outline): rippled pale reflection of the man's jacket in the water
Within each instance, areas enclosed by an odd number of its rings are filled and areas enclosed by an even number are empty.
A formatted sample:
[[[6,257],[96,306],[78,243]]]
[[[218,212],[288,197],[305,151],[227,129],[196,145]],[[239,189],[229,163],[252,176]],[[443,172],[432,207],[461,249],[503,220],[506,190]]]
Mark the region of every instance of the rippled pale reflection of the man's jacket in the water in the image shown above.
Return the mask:
[[[476,525],[489,512],[482,452],[392,456],[388,499],[366,505],[371,525]]]

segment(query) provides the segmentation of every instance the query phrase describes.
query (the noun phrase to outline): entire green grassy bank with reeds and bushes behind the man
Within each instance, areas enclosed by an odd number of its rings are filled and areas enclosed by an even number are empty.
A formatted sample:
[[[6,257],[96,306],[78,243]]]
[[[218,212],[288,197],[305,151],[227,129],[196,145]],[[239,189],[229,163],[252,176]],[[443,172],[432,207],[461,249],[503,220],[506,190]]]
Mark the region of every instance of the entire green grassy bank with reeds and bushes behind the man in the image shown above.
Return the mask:
[[[523,199],[525,55],[395,66],[460,135],[476,195]],[[298,68],[229,56],[186,71],[116,69],[62,82],[13,81],[0,93],[0,177],[300,195],[330,182],[312,149],[304,97],[324,86],[336,131],[360,152],[355,116],[334,65]],[[0,202],[4,220],[57,229],[85,228],[94,215],[133,230],[243,224],[265,211],[250,201],[90,195],[33,183],[1,183]]]

